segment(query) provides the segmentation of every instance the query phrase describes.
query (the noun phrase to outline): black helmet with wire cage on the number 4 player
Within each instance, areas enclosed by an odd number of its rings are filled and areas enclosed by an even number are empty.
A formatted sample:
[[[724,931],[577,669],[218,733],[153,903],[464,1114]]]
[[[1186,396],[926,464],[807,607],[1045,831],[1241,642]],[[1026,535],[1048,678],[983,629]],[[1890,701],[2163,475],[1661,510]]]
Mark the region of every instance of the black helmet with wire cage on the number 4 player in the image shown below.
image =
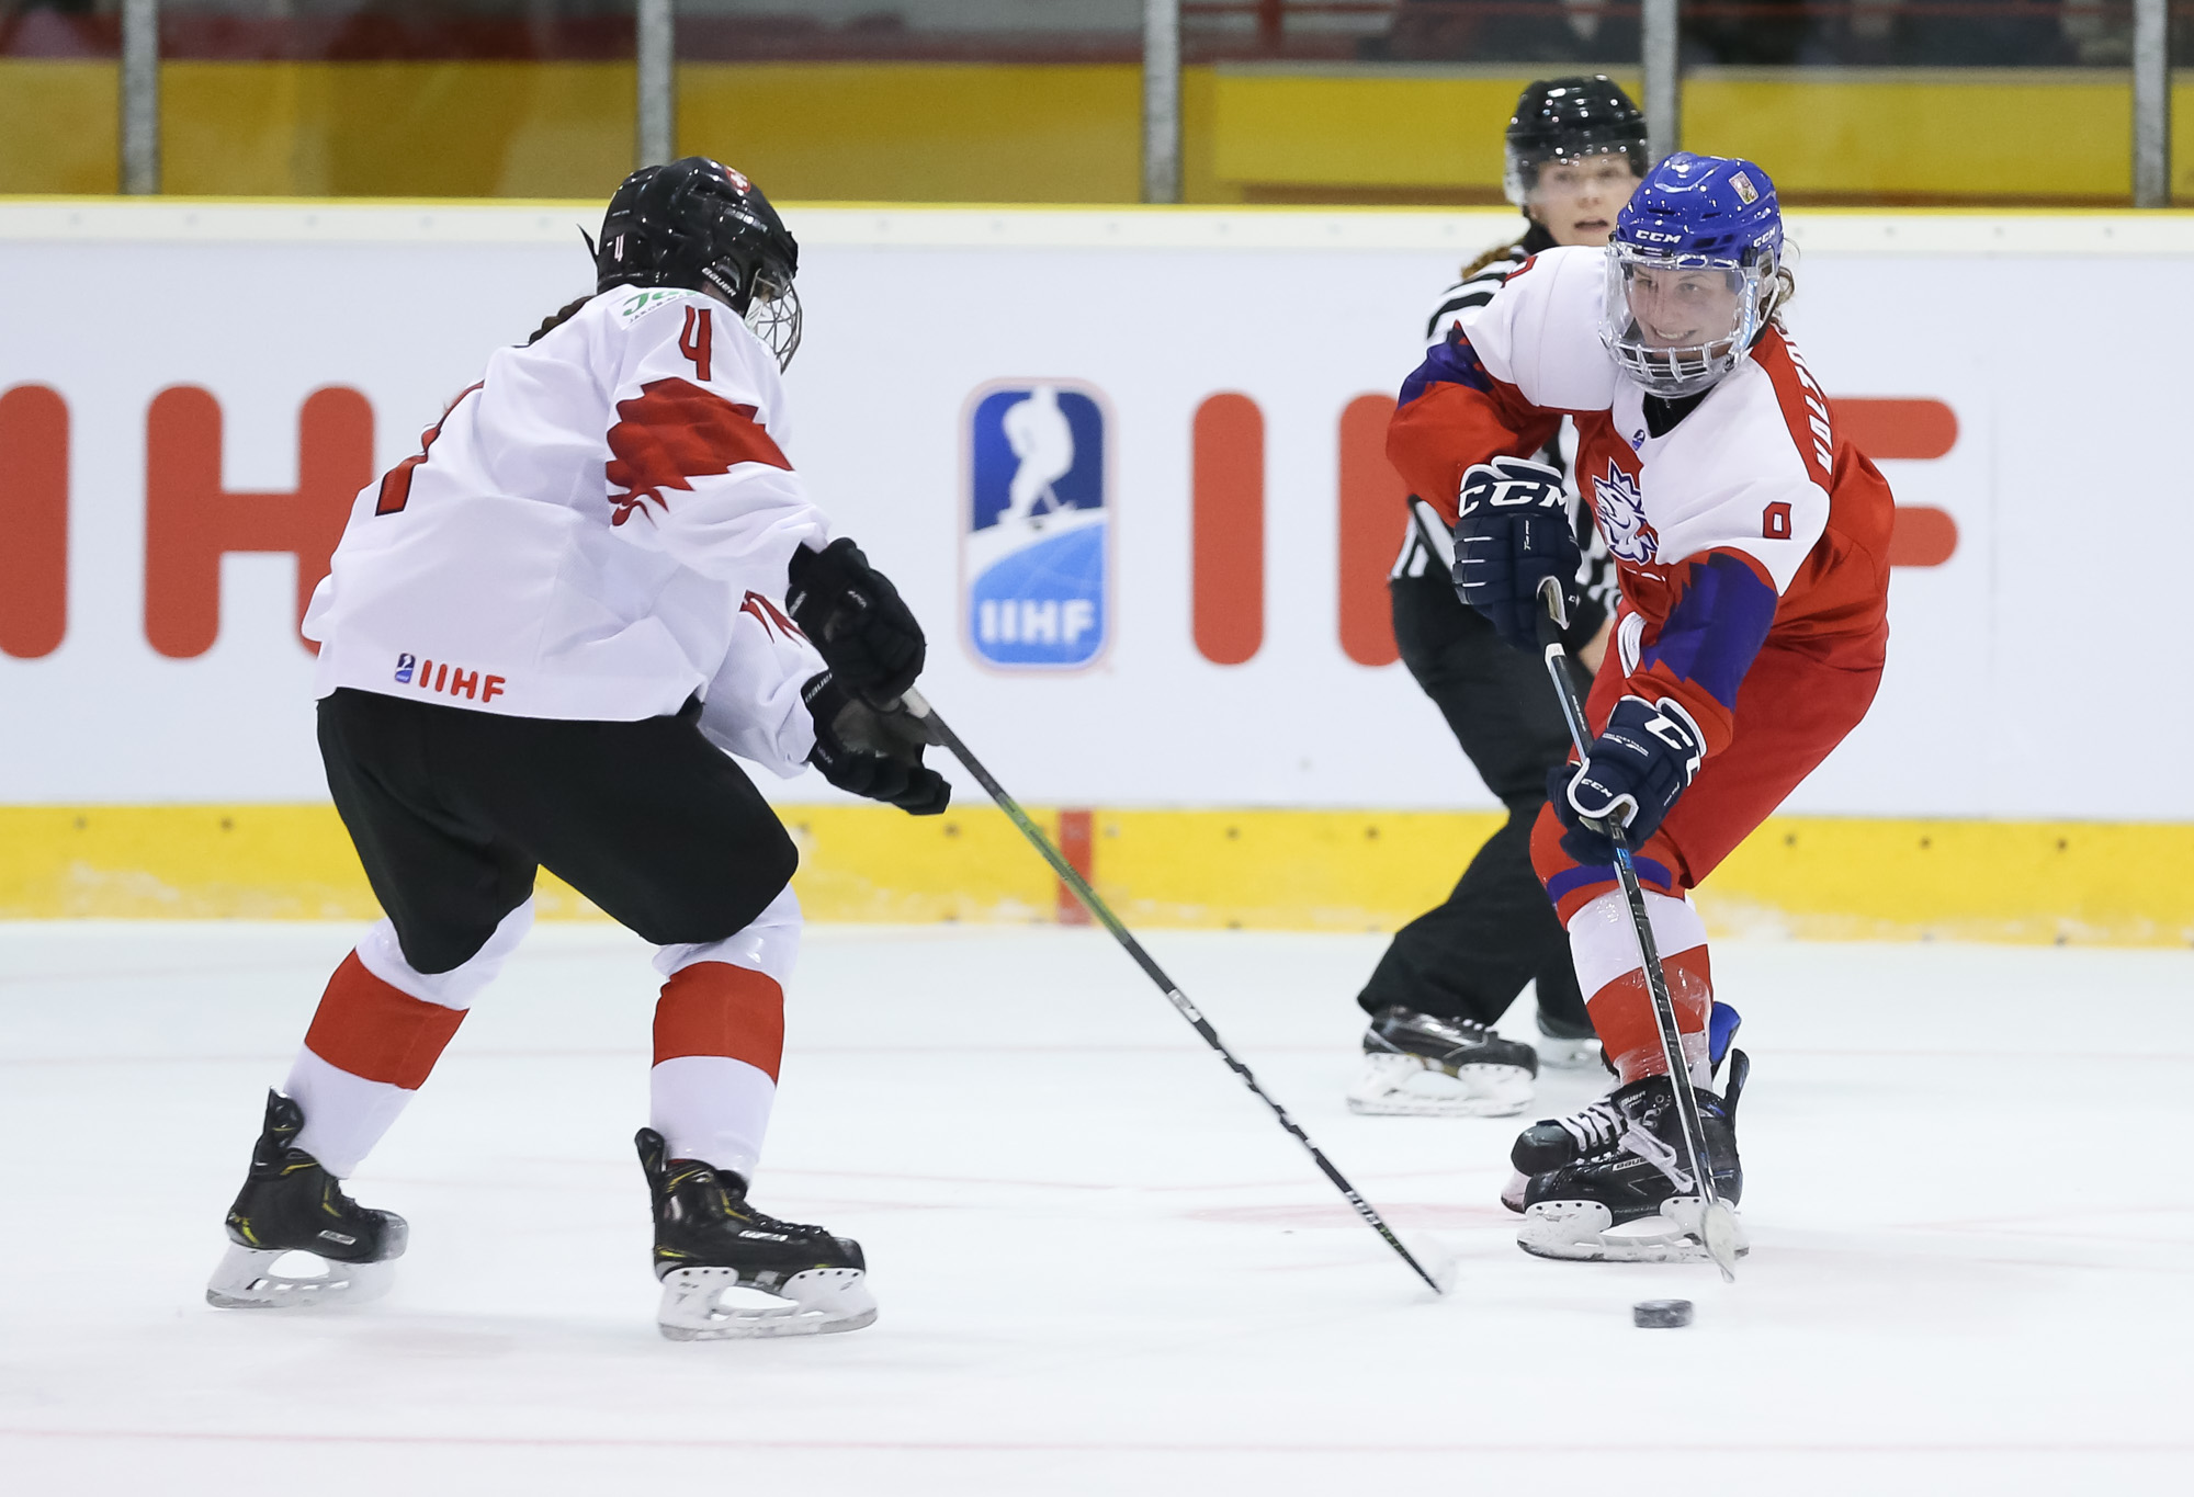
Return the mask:
[[[717,292],[777,356],[801,347],[792,279],[801,246],[744,173],[706,156],[641,167],[610,198],[595,244],[595,290],[682,285]]]

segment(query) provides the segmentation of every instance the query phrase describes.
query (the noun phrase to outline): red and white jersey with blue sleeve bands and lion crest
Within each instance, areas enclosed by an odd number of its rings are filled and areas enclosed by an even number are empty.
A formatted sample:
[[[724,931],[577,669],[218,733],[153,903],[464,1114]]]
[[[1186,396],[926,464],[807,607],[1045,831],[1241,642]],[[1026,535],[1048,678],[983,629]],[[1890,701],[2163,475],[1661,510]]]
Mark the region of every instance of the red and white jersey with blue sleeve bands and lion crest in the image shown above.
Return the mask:
[[[1387,457],[1452,525],[1463,470],[1531,457],[1571,417],[1577,489],[1621,584],[1630,691],[1672,696],[1711,755],[1768,641],[1882,663],[1893,500],[1779,327],[1656,435],[1599,342],[1604,294],[1604,250],[1531,257],[1402,386]]]

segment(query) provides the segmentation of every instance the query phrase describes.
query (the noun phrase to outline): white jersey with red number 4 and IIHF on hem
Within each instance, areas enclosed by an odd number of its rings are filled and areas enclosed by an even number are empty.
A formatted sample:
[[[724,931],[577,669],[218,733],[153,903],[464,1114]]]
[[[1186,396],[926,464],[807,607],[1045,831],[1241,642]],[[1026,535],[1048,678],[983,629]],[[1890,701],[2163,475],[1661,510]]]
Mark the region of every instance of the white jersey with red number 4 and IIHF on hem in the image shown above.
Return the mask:
[[[799,773],[821,656],[779,610],[829,522],[781,450],[777,360],[722,303],[617,288],[498,349],[351,507],[305,634],[338,687],[702,731]]]

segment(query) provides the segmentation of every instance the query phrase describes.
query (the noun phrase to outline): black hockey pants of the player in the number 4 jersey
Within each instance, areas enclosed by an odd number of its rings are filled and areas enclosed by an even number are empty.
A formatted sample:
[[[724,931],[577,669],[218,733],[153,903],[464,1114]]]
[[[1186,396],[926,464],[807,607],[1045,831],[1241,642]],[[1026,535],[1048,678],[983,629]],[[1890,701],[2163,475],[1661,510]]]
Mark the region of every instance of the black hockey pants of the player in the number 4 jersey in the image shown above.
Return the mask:
[[[799,852],[746,773],[674,718],[559,722],[320,698],[320,757],[404,959],[448,972],[546,867],[656,946],[720,942],[783,893]]]

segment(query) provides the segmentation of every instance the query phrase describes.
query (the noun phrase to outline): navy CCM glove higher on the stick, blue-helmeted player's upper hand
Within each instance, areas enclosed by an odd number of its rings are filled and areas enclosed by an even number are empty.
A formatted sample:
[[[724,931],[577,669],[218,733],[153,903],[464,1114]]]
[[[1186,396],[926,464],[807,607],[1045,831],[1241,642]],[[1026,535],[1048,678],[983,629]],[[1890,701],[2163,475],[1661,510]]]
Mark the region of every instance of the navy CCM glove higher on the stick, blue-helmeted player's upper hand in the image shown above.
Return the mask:
[[[1562,617],[1582,601],[1577,533],[1562,470],[1496,457],[1463,474],[1455,498],[1455,593],[1518,650],[1538,648],[1538,584],[1562,584]]]

